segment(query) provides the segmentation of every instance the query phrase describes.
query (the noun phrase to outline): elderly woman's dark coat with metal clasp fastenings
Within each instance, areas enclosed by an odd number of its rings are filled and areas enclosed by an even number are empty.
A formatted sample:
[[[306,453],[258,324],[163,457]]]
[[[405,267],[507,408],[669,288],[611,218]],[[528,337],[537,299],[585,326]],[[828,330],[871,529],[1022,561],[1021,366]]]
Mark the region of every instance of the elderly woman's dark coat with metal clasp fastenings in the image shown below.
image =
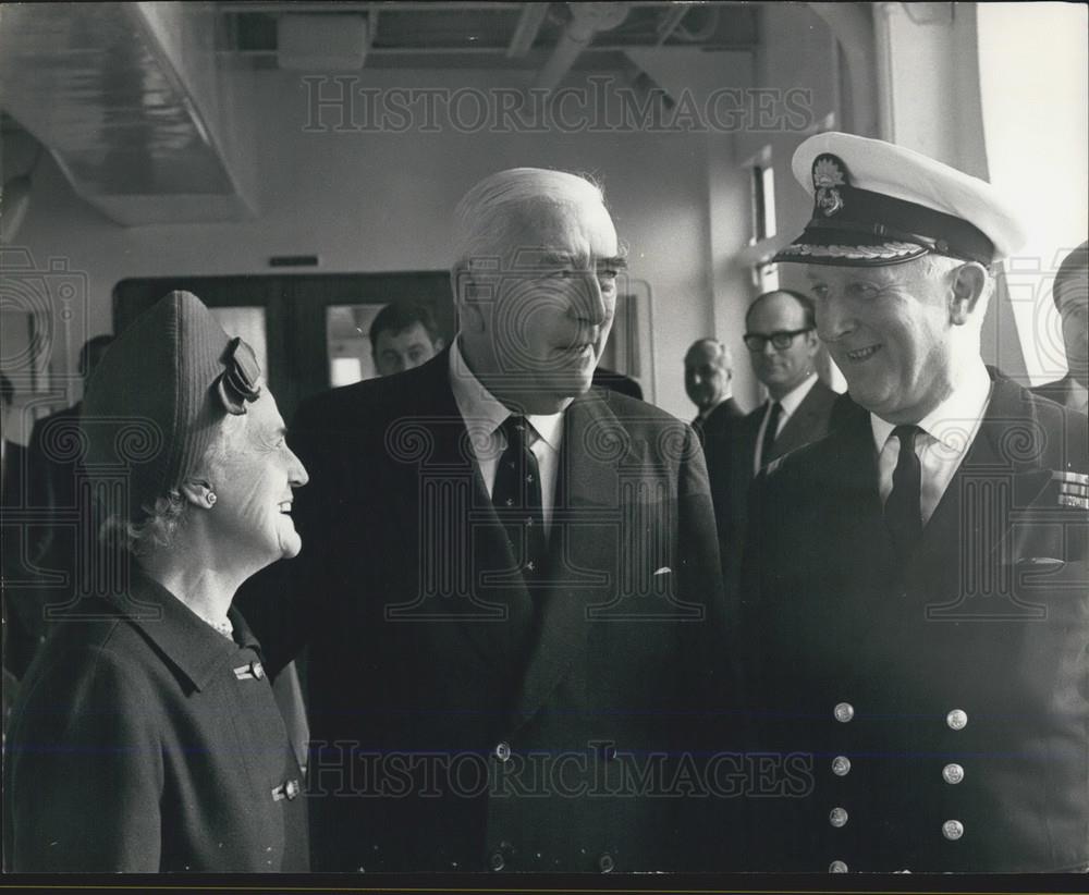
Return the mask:
[[[302,777],[256,639],[237,611],[231,642],[134,578],[124,601],[81,601],[30,665],[5,869],[305,870]]]

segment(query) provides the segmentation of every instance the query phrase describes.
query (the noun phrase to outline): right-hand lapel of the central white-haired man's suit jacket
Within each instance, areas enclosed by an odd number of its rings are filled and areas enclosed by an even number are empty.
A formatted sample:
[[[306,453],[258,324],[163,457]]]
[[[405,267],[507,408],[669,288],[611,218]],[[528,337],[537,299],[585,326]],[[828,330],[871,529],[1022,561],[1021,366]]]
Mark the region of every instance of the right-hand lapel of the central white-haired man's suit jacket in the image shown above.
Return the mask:
[[[594,610],[619,592],[625,569],[626,527],[613,539],[603,529],[623,526],[629,494],[617,469],[643,462],[628,430],[590,392],[576,397],[564,417],[560,476],[549,540],[549,587],[539,600],[539,623],[529,649],[511,723],[537,713],[572,662],[586,650]]]

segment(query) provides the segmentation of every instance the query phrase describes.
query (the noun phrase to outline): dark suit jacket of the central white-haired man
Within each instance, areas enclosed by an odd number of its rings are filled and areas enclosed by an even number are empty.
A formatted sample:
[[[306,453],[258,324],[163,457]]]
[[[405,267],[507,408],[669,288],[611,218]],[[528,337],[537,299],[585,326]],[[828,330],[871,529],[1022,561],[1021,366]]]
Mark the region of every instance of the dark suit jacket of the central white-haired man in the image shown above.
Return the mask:
[[[695,434],[623,395],[576,397],[549,581],[529,590],[449,363],[304,405],[303,553],[277,566],[294,587],[266,577],[243,601],[273,665],[310,641],[315,868],[724,860],[729,832],[702,838],[710,799],[666,795],[684,752],[733,745],[710,741],[736,691]]]

